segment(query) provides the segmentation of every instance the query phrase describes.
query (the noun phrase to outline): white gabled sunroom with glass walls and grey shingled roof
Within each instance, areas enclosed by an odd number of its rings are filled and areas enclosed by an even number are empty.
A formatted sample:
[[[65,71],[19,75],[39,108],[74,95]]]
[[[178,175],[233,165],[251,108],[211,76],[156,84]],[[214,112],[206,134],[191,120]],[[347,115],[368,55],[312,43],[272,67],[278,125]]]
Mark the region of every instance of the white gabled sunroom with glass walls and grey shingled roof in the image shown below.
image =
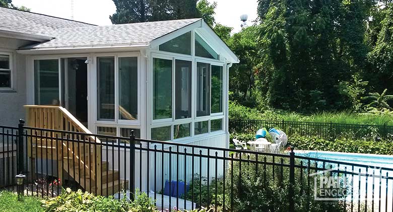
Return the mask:
[[[202,19],[58,30],[17,52],[28,105],[62,106],[97,134],[229,146],[238,58]]]

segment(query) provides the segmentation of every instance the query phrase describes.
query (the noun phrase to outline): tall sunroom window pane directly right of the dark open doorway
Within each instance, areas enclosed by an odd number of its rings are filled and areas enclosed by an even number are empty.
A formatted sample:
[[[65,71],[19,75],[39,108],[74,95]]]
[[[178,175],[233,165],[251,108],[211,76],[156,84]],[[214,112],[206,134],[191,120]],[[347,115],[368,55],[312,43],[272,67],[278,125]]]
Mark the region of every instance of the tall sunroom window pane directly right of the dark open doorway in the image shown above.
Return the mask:
[[[97,57],[97,117],[114,120],[114,57]]]

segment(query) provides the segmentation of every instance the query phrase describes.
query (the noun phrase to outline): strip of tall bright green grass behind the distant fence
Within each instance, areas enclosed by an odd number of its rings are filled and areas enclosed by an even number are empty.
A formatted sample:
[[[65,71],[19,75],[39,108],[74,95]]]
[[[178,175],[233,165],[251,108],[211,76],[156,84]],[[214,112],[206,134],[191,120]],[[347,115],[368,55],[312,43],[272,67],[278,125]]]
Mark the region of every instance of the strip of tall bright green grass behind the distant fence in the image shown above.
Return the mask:
[[[373,124],[393,125],[393,116],[389,114],[371,115],[360,114],[351,111],[319,112],[312,114],[301,114],[283,110],[263,110],[247,108],[237,103],[230,102],[229,118],[231,119],[258,119],[258,120],[286,120],[307,122],[334,122],[345,124]]]

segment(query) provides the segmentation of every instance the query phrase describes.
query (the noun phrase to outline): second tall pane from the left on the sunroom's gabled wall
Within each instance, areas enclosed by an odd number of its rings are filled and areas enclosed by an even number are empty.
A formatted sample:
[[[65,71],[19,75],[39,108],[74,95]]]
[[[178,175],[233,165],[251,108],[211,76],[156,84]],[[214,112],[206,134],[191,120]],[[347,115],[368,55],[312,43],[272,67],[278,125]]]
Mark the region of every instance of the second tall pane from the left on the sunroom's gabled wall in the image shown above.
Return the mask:
[[[176,60],[175,117],[191,117],[191,61]]]

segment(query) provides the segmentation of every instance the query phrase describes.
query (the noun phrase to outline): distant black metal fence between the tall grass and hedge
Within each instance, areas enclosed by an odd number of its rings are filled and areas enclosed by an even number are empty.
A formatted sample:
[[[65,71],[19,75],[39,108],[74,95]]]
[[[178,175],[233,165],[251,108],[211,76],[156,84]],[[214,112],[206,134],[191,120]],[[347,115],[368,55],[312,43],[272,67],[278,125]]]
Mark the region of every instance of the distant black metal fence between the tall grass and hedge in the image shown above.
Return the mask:
[[[393,126],[389,125],[229,119],[229,130],[231,133],[255,134],[256,130],[262,127],[282,129],[287,135],[318,136],[324,139],[335,139],[345,136],[353,139],[382,138],[393,140]]]

